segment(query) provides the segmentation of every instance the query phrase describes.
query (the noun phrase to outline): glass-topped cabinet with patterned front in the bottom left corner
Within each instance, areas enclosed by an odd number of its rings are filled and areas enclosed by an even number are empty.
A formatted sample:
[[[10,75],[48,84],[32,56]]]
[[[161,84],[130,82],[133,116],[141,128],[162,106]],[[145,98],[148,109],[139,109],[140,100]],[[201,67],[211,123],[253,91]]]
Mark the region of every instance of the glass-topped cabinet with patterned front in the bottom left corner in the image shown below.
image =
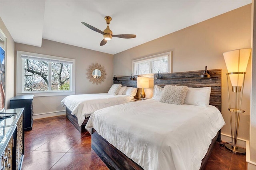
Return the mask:
[[[6,117],[4,117],[6,116]],[[21,170],[24,158],[24,108],[0,112],[0,168]]]

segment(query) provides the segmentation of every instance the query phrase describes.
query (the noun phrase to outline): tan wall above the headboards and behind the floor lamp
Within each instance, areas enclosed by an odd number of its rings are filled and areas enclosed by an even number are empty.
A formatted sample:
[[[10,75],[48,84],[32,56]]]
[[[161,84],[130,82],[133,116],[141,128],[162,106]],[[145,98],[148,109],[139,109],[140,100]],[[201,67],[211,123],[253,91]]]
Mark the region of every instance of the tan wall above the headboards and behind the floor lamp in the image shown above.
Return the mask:
[[[172,23],[170,23],[172,24]],[[156,30],[159,31],[159,30]],[[222,115],[226,125],[222,133],[230,135],[228,111],[227,72],[222,53],[251,47],[251,5],[192,25],[132,49],[114,55],[114,74],[132,73],[132,60],[172,51],[172,71],[182,72],[222,68]],[[249,139],[251,62],[246,74],[238,138]]]

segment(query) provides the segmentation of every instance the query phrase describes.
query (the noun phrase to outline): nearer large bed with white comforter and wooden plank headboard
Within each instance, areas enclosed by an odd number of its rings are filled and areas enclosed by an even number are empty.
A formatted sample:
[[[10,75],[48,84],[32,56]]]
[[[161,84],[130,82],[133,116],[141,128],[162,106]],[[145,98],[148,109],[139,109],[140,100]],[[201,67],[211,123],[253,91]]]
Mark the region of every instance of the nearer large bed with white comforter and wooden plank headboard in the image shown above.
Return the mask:
[[[86,125],[92,133],[92,149],[110,169],[204,168],[225,124],[220,113],[221,69],[210,70],[210,75],[200,78],[200,71],[168,73],[162,80],[154,80],[154,93],[165,85],[190,87],[182,105],[163,102],[163,97],[159,100],[154,94],[155,100],[94,112]],[[196,101],[198,94],[193,90],[205,96],[208,88],[208,104]]]

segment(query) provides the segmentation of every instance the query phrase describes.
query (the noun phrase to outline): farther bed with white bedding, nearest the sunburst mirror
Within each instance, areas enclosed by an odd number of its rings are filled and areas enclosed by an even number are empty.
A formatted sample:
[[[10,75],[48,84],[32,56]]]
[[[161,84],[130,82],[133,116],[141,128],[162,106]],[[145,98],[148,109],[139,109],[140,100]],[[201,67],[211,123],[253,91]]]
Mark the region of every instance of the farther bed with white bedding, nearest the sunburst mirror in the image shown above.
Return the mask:
[[[119,77],[118,80],[114,81],[114,84],[120,84],[122,88],[127,87],[123,91],[124,95],[122,93],[118,95],[110,95],[108,93],[78,94],[67,96],[61,101],[62,106],[66,106],[66,117],[80,133],[86,131],[84,127],[94,111],[128,103],[133,101],[131,100],[132,98],[138,97],[136,76],[135,80],[129,80],[129,76]]]

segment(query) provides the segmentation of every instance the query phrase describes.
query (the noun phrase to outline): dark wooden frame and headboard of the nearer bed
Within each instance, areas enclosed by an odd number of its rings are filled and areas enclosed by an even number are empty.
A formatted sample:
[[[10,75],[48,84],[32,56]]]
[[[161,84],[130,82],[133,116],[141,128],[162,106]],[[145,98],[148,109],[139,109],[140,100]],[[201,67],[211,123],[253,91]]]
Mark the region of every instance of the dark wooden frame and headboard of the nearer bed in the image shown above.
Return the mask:
[[[154,80],[154,84],[158,86],[172,85],[184,85],[188,87],[208,87],[212,88],[210,95],[210,105],[216,106],[221,111],[221,69],[209,70],[210,78],[200,78],[202,71],[190,71],[190,72],[176,72],[162,74],[163,78],[160,80]],[[154,75],[154,77],[156,74]],[[214,147],[216,141],[220,141],[221,130],[218,131],[212,143],[209,146],[208,152],[202,159],[200,170],[204,169],[208,158]],[[108,166],[110,170],[142,170],[143,168],[136,164],[133,160],[128,158],[125,154],[120,152],[98,133],[92,129],[92,149],[98,154],[103,162]]]

